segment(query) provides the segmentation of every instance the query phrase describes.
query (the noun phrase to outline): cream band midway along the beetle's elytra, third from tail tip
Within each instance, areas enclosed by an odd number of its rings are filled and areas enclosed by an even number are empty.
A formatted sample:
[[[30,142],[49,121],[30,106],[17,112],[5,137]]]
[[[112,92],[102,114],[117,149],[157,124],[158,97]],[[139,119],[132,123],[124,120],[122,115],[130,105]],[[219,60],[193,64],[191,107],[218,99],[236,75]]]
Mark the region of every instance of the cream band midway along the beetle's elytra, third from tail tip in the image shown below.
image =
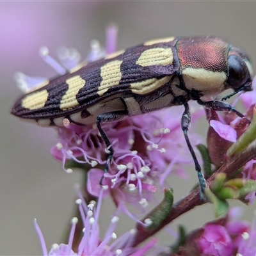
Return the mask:
[[[120,83],[122,78],[122,62],[122,60],[110,61],[100,68],[100,77],[102,78],[102,81],[100,82],[100,86],[98,88],[99,96],[102,96],[112,86],[116,86]]]

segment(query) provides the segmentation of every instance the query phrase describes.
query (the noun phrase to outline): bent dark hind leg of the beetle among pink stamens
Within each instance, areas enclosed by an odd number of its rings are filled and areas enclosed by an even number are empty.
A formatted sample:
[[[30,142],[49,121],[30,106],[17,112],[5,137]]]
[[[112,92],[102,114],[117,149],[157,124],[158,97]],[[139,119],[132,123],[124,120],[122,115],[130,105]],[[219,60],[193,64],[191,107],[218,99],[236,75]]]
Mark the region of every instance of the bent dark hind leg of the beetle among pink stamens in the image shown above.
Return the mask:
[[[106,132],[104,132],[104,130],[102,129],[100,124],[102,122],[117,121],[117,120],[124,118],[124,116],[127,116],[127,115],[128,115],[127,111],[122,110],[122,111],[103,113],[103,114],[100,114],[99,116],[97,116],[97,122],[96,122],[97,128],[100,132],[100,136],[102,137],[102,140],[104,140],[106,147],[109,150],[109,155],[108,155],[107,163],[104,168],[104,173],[108,172],[109,164],[111,163],[111,159],[113,157],[114,150],[113,150],[113,147],[110,145],[110,141],[109,141],[109,138],[108,138]],[[100,186],[102,186],[103,178],[104,178],[104,175],[100,179]]]

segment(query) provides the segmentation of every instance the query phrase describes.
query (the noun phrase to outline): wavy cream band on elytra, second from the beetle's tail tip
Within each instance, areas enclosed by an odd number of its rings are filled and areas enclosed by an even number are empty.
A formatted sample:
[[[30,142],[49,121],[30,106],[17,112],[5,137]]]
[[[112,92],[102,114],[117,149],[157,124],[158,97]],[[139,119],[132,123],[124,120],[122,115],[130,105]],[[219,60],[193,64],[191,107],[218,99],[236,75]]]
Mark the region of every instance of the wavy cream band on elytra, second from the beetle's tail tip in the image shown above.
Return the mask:
[[[76,95],[83,88],[85,80],[81,76],[73,76],[68,78],[66,83],[68,84],[68,90],[60,101],[60,109],[62,110],[74,108],[79,105]]]

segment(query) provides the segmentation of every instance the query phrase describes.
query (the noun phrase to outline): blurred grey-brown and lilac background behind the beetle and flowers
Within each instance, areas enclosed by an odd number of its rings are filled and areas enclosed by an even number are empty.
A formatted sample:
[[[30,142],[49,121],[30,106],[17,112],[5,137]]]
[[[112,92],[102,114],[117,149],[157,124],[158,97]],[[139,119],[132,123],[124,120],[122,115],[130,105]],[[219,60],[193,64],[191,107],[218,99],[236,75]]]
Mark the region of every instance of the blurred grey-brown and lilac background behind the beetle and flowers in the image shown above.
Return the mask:
[[[36,127],[10,115],[21,92],[13,74],[52,77],[56,73],[38,56],[42,45],[56,57],[60,45],[76,47],[84,58],[90,41],[104,45],[110,22],[119,27],[118,49],[145,40],[166,36],[215,35],[242,47],[256,63],[256,3],[246,1],[81,1],[81,2],[0,2],[0,255],[42,255],[33,219],[36,218],[50,249],[72,218],[79,172],[64,173],[49,150],[57,142],[54,129]],[[256,68],[256,65],[253,65]],[[207,122],[198,132],[205,136]],[[190,156],[189,156],[190,157]],[[188,180],[170,181],[175,200],[196,183],[193,168]],[[159,197],[161,198],[161,197]],[[242,204],[239,204],[243,206]],[[104,202],[100,225],[102,234],[112,210]],[[243,219],[252,221],[255,205],[244,207]],[[188,230],[212,220],[211,205],[197,207],[170,226],[182,223]],[[132,221],[122,221],[120,230],[129,230]],[[172,237],[162,236],[161,244]]]

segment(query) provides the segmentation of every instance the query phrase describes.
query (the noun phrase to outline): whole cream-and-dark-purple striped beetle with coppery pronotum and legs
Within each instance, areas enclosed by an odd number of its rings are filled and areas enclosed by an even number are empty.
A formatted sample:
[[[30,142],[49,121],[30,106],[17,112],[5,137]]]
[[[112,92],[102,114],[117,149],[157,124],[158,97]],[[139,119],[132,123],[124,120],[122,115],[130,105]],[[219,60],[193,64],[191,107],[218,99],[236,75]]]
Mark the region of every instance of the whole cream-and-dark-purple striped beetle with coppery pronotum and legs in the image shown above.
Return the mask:
[[[227,102],[200,99],[229,88],[234,90],[232,95],[252,90],[252,65],[243,51],[213,37],[170,37],[151,40],[74,68],[23,95],[12,113],[41,126],[64,126],[65,120],[76,125],[96,123],[109,149],[104,170],[108,172],[114,150],[100,125],[102,122],[184,105],[181,127],[203,193],[204,175],[188,138],[191,123],[188,101],[196,100],[207,108],[243,116]]]

